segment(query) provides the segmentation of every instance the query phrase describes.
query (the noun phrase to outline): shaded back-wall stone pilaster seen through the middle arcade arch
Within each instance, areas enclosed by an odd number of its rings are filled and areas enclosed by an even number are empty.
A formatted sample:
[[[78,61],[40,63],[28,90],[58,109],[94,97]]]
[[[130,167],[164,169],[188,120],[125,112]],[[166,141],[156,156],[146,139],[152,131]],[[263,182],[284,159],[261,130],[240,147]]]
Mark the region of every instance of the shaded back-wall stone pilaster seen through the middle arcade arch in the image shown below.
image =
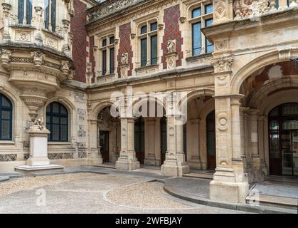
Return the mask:
[[[145,119],[145,138],[147,140],[147,151],[145,151],[144,165],[158,165],[155,157],[155,118]]]

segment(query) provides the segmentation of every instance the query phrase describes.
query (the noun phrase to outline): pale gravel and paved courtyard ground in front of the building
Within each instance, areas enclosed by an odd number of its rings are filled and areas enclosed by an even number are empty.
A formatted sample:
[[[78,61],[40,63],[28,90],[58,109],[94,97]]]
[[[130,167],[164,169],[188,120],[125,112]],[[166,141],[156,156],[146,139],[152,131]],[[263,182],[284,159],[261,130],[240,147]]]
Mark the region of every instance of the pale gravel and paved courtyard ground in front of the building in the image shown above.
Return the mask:
[[[181,201],[150,177],[76,173],[0,182],[0,213],[243,213]]]

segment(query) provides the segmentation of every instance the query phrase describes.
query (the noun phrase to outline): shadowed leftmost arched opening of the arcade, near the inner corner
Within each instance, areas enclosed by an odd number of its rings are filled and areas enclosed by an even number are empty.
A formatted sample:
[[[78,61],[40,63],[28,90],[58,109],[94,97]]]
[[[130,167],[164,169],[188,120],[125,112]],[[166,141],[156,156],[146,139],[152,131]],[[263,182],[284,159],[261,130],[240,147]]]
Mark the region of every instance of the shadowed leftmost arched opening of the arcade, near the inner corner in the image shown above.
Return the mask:
[[[97,148],[102,162],[116,162],[119,157],[120,121],[111,115],[110,106],[102,108],[97,116]]]

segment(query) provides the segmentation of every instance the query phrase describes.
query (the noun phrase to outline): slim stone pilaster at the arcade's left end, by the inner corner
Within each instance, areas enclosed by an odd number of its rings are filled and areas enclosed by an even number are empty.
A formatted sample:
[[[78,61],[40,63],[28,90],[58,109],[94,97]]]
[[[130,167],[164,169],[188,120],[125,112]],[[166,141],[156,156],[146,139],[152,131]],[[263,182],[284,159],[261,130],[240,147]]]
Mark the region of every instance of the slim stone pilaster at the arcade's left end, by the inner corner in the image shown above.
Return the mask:
[[[88,120],[89,122],[89,158],[92,162],[92,165],[101,165],[102,164],[102,155],[100,153],[97,145],[98,133],[97,133],[97,120]]]

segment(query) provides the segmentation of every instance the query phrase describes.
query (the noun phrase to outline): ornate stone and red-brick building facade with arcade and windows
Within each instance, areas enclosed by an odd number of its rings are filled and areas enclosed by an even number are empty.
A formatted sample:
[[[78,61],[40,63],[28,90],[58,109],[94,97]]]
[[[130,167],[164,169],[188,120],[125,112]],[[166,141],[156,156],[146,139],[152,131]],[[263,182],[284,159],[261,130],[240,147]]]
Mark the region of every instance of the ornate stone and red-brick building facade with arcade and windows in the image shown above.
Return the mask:
[[[295,0],[44,2],[2,1],[0,170],[25,164],[43,116],[60,165],[215,170],[210,197],[229,202],[268,175],[298,175]],[[135,115],[144,104],[154,115]]]

